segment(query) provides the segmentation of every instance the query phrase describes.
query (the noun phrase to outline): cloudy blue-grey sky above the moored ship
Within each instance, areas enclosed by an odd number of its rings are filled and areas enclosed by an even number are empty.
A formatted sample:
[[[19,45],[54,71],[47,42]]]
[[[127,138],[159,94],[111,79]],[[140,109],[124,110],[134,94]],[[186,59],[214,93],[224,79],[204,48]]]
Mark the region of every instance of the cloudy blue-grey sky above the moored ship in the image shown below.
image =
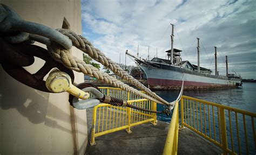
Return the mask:
[[[218,47],[218,71],[244,79],[256,79],[255,1],[82,1],[83,36],[115,62],[125,63],[125,51],[139,56],[165,58],[170,48],[170,23],[175,25],[174,48],[183,60],[197,65],[200,38],[201,67],[214,71],[214,46]],[[127,65],[134,62],[127,58]]]

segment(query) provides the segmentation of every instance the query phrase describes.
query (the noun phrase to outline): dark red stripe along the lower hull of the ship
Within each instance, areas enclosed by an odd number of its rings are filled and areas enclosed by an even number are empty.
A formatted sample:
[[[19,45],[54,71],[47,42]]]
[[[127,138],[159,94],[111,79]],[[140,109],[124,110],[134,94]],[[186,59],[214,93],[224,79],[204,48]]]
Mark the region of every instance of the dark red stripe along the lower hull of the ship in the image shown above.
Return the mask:
[[[182,81],[148,78],[147,83],[150,86],[181,86]],[[184,86],[227,86],[227,84],[184,81]]]

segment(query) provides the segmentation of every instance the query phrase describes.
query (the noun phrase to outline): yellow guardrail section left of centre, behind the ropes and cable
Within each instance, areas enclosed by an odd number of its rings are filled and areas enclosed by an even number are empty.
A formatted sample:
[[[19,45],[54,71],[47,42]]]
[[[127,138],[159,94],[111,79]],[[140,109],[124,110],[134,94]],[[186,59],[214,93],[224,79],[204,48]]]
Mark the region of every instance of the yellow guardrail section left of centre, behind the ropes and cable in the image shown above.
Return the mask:
[[[99,87],[103,94],[111,97],[122,98],[128,104],[137,105],[149,110],[157,110],[157,103],[141,98],[136,94],[119,88]],[[131,126],[151,122],[156,124],[157,116],[152,112],[140,111],[128,107],[117,107],[110,104],[99,104],[93,108],[92,132],[90,144],[95,145],[95,137],[107,133],[124,130],[131,133]]]

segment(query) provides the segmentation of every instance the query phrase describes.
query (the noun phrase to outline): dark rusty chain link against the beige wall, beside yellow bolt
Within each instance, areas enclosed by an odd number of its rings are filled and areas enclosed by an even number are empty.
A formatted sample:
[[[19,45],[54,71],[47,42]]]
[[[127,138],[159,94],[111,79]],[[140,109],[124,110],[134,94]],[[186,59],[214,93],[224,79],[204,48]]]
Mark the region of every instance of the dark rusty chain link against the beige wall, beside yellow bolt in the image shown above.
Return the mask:
[[[44,48],[25,43],[11,45],[2,38],[0,38],[0,45],[0,63],[4,71],[26,86],[51,93],[46,88],[43,78],[52,68],[58,68],[69,74],[73,83],[73,71],[53,60]],[[45,64],[35,74],[30,74],[23,67],[32,65],[35,60],[34,57],[43,59]]]

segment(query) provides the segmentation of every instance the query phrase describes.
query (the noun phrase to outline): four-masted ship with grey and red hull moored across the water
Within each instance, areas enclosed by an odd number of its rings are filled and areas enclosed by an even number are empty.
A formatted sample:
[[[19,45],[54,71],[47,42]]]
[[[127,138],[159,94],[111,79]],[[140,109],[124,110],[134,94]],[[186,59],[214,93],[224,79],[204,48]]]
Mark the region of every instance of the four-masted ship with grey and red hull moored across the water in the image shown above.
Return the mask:
[[[184,89],[213,89],[213,88],[237,88],[242,86],[241,75],[228,73],[228,61],[226,56],[226,75],[219,75],[217,69],[217,47],[215,50],[215,75],[212,70],[200,67],[200,45],[197,38],[198,65],[190,61],[182,61],[181,50],[173,48],[173,27],[171,35],[171,49],[165,51],[167,59],[154,57],[149,59],[138,58],[128,51],[126,54],[136,60],[137,65],[144,71],[147,84],[150,89],[180,89],[184,81]]]

